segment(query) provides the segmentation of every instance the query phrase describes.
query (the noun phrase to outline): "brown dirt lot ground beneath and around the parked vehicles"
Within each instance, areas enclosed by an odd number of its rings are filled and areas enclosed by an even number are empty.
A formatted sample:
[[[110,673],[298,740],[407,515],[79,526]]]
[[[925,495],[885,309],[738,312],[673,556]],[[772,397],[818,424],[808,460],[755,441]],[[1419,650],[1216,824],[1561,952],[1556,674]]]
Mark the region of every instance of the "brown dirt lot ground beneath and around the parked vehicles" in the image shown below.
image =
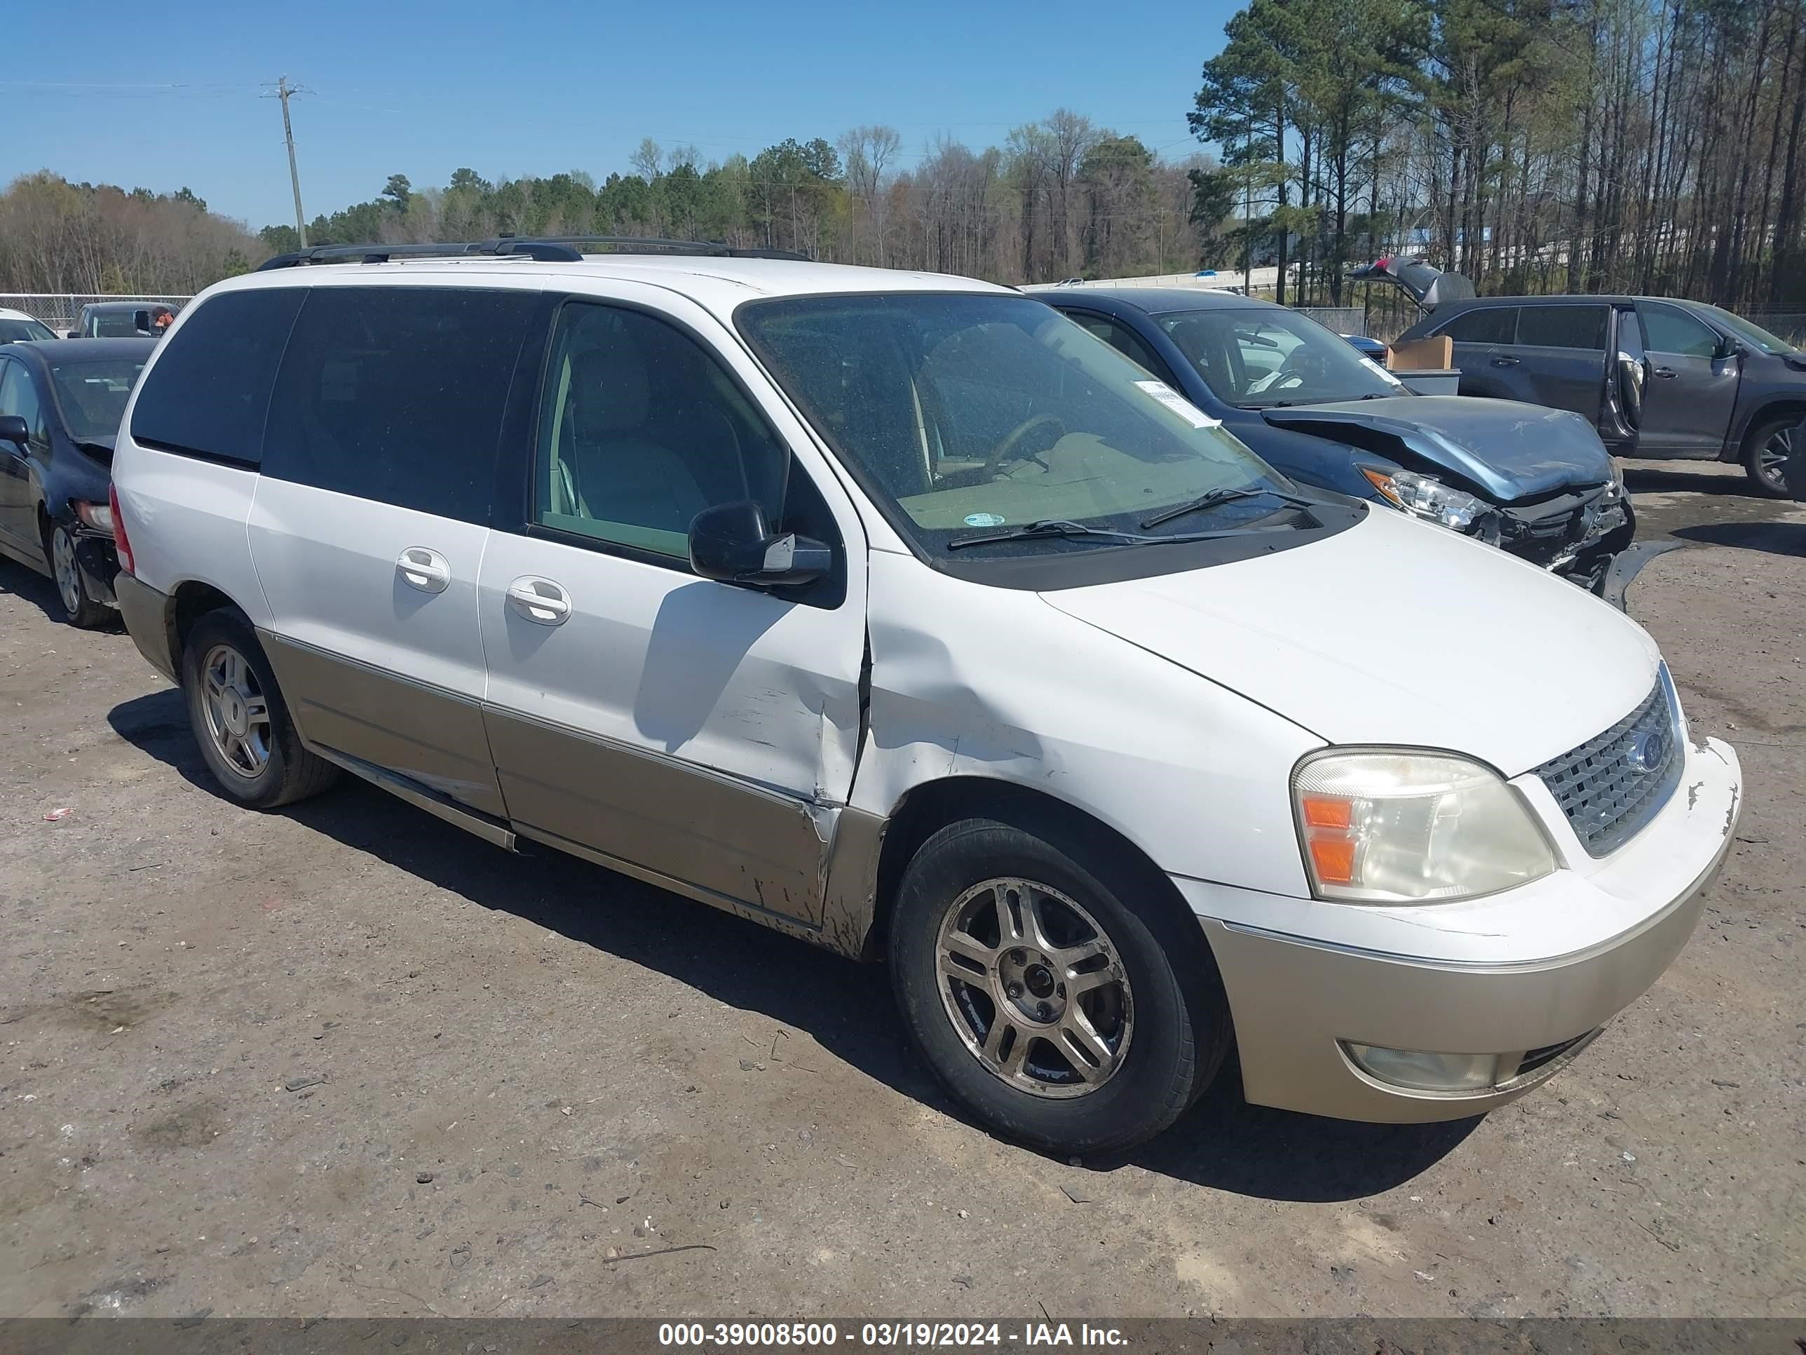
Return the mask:
[[[878,968],[361,784],[228,806],[0,564],[0,1315],[1806,1313],[1806,509],[1631,488],[1748,779],[1676,967],[1483,1122],[1226,1077],[1096,1167],[954,1115]]]

